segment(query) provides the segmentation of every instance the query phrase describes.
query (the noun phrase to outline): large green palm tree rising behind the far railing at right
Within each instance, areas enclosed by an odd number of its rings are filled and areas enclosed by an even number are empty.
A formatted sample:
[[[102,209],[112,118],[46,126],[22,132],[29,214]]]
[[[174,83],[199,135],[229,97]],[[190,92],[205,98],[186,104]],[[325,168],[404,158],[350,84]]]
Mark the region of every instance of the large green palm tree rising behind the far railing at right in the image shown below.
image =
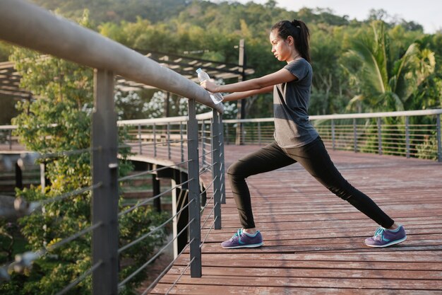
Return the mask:
[[[374,21],[371,28],[373,35],[354,40],[347,54],[350,64],[359,65],[345,66],[356,88],[347,108],[357,105],[359,111],[406,110],[419,85],[434,72],[434,52],[421,50],[414,42],[402,57],[394,59],[385,23]]]

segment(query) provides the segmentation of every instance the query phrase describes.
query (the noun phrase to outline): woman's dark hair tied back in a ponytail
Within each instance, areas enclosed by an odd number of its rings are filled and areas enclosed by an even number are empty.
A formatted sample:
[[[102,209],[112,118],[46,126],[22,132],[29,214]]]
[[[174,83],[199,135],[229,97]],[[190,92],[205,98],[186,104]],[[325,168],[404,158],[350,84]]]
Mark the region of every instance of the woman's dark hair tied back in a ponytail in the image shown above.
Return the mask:
[[[303,21],[294,19],[293,21],[279,21],[272,27],[272,31],[277,30],[277,35],[282,39],[287,40],[287,37],[292,36],[294,39],[294,48],[301,54],[301,57],[311,62],[309,38],[310,31]]]

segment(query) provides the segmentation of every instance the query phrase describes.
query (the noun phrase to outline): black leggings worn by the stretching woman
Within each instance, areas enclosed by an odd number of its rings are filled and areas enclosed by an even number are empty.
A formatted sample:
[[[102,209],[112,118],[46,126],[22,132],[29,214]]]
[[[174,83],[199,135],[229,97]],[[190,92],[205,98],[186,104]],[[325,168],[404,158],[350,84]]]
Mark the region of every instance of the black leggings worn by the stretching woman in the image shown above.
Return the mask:
[[[384,228],[393,226],[394,221],[367,195],[354,188],[342,177],[328,156],[321,137],[310,144],[292,149],[282,149],[273,142],[258,151],[240,158],[227,170],[230,186],[239,212],[239,219],[244,229],[255,227],[249,187],[246,178],[250,175],[268,172],[299,162],[330,192],[345,199],[360,212],[366,214]]]

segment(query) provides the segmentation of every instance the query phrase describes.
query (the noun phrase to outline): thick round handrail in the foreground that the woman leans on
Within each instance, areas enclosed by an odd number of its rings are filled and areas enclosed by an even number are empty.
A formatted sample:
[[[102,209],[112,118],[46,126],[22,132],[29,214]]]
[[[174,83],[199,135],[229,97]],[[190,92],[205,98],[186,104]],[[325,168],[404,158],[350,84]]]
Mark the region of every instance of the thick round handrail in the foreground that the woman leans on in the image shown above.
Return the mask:
[[[192,98],[223,112],[207,91],[171,69],[99,33],[23,0],[2,0],[0,40]],[[54,42],[57,40],[57,42]]]

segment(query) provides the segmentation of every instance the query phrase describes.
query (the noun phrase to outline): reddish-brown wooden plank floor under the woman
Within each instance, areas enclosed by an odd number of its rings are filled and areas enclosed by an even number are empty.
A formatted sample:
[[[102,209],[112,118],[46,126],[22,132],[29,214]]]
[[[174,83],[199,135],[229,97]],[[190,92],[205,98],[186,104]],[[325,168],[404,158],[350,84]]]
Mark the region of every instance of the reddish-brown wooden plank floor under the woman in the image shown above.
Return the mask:
[[[258,148],[225,146],[226,166]],[[330,156],[350,183],[405,225],[407,241],[366,247],[377,224],[295,164],[248,179],[261,248],[220,247],[240,227],[226,183],[222,229],[210,231],[203,245],[203,276],[186,270],[169,294],[442,294],[442,164],[347,151]],[[165,294],[188,262],[181,255],[151,294]]]

